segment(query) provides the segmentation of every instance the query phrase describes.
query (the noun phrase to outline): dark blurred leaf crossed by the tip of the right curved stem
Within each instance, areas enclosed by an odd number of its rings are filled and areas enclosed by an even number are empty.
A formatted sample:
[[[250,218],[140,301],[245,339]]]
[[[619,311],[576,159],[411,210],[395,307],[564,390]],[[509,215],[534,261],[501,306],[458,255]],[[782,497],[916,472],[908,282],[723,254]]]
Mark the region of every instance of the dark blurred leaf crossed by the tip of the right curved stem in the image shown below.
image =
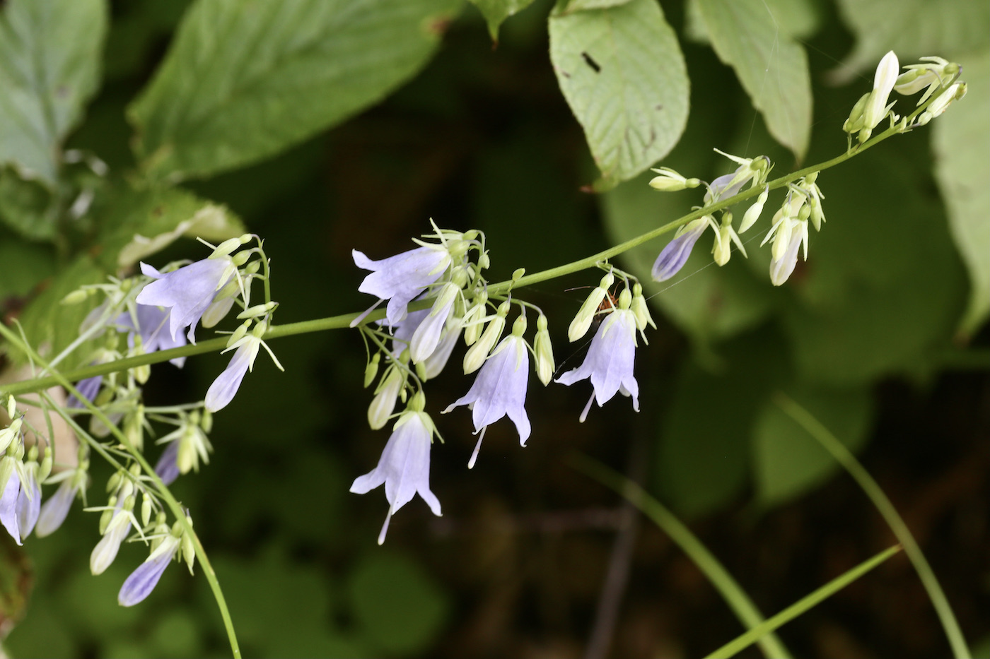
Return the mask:
[[[870,421],[867,387],[794,386],[787,394],[832,429],[849,450],[862,446]],[[756,496],[770,506],[808,492],[840,470],[817,439],[769,401],[753,424],[752,460]]]

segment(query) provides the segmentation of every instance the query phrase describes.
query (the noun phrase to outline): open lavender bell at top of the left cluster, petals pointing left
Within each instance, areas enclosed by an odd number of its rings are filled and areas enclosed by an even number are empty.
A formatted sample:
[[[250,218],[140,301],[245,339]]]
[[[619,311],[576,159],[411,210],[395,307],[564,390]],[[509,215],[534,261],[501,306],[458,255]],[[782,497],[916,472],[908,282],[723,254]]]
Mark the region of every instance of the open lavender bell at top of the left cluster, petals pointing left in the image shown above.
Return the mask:
[[[235,269],[230,256],[204,258],[164,274],[142,263],[141,271],[157,281],[145,286],[136,300],[141,305],[170,310],[168,329],[172,339],[180,329],[188,327],[186,335],[195,343],[196,324],[213,304],[217,292],[234,276]]]

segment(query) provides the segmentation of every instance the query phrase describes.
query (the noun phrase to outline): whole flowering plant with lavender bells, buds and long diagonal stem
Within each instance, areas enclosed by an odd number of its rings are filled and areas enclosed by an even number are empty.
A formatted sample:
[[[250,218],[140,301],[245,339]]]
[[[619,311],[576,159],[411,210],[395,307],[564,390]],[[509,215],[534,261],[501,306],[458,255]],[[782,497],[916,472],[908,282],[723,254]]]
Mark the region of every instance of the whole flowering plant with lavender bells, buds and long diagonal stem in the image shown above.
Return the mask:
[[[956,63],[924,57],[905,68],[906,72],[899,72],[892,52],[881,60],[873,89],[855,104],[842,127],[848,136],[847,147],[838,158],[769,180],[772,165],[765,156],[746,158],[719,151],[735,163],[735,169],[705,183],[701,206],[692,213],[623,245],[542,273],[527,276],[517,270],[510,281],[491,284],[485,278],[489,266],[485,235],[474,230],[441,230],[434,225],[434,233],[414,239],[416,247],[394,256],[372,260],[360,251],[352,252],[354,263],[370,271],[358,290],[376,300],[352,322],[347,316],[297,324],[300,327],[294,329],[274,328],[277,305],[270,299],[268,259],[259,238],[243,235],[217,246],[208,245],[212,251],[202,254],[200,260],[165,264],[160,269],[142,263],[140,274],[110,278],[108,283],[85,286],[70,294],[64,299],[66,304],[91,301],[95,309],[79,328],[78,337],[49,360],[23,336],[0,325],[8,343],[20,349],[37,369],[34,382],[51,376],[71,397],[68,404],[59,404],[45,393],[48,385],[11,391],[40,392],[37,405],[44,414],[60,417],[79,439],[72,448],[77,451],[74,456],[55,455],[52,447],[57,442],[49,436],[53,430],[48,430],[51,424],[48,428],[28,424],[14,397],[5,398],[11,422],[0,428],[0,522],[17,542],[32,530],[38,535],[53,532],[76,498],[85,502],[94,454],[106,459],[115,470],[107,483],[107,499],[86,508],[100,514],[101,538],[92,550],[91,569],[94,574],[106,570],[122,542],[145,541],[148,560],[134,570],[119,596],[124,606],[141,602],[173,558],[181,555],[190,569],[194,555],[207,561],[195,539],[190,513],[179,506],[167,486],[208,461],[211,414],[231,403],[261,347],[281,368],[265,338],[339,328],[348,322],[351,327],[359,326],[367,348],[364,385],[370,387],[377,381],[368,424],[379,429],[394,421],[377,466],[356,478],[351,491],[365,493],[384,486],[389,511],[379,542],[384,540],[394,513],[416,494],[440,515],[440,501],[430,489],[430,452],[433,437],[439,434],[426,411],[425,386],[450,363],[461,336],[466,346],[462,370],[465,375],[476,375],[470,386],[465,383],[463,395],[444,403],[446,411],[461,406],[471,410],[478,438],[468,466],[477,458],[486,428],[504,417],[515,424],[521,444],[530,437],[526,402],[531,393],[531,355],[539,380],[544,385],[553,380],[555,364],[547,318],[520,297],[520,289],[529,284],[591,267],[604,270],[599,285],[567,332],[571,341],[593,332],[587,354],[580,366],[560,374],[555,381],[574,385],[590,380],[593,393],[581,421],[593,402],[601,406],[617,393],[632,398],[633,408],[638,410],[639,385],[634,375],[637,333],[645,342],[646,328],[655,325],[643,286],[608,259],[674,227],[676,234],[652,268],[658,281],[671,278],[684,266],[694,245],[709,229],[715,234],[711,248],[715,263],[725,265],[734,250],[745,257],[741,235],[756,225],[770,192],[779,189],[784,198],[762,244],[770,242],[770,281],[778,286],[788,281],[798,257],[807,259],[811,228],[821,231],[825,223],[819,171],[878,141],[924,126],[965,95],[966,86],[959,80],[961,69]],[[890,102],[893,92],[916,94],[923,90],[910,114],[901,117],[894,112],[895,103]],[[885,127],[888,119],[889,127]],[[659,191],[693,189],[702,184],[698,178],[682,176],[667,167],[654,171],[658,175],[649,184]],[[743,201],[749,203],[744,213],[734,214],[731,207]],[[742,221],[737,222],[738,218]],[[622,287],[618,296],[610,291],[617,281]],[[252,285],[257,283],[263,286],[264,299],[252,303]],[[94,296],[101,297],[97,301]],[[383,302],[386,309],[373,317],[379,320],[366,322]],[[230,363],[203,400],[149,406],[143,387],[152,375],[150,364],[167,358],[182,367],[186,355],[219,350],[216,341],[204,341],[202,335],[198,346],[187,345],[187,341],[195,344],[197,333],[214,327],[235,308],[242,323],[226,341],[224,352],[233,352]],[[528,313],[537,314],[532,342],[526,337]],[[504,335],[507,327],[511,331]],[[162,350],[176,351],[167,357],[155,354]],[[75,387],[57,369],[69,355],[77,363],[90,365],[73,374]],[[121,359],[128,362],[121,365]],[[397,414],[400,404],[402,411]],[[168,426],[163,436],[146,441],[146,435],[156,436],[161,426]],[[34,438],[29,441],[29,436]],[[152,469],[145,448],[162,443],[165,446]],[[45,488],[50,486],[57,489],[43,502]],[[231,631],[216,578],[208,568],[204,573]]]

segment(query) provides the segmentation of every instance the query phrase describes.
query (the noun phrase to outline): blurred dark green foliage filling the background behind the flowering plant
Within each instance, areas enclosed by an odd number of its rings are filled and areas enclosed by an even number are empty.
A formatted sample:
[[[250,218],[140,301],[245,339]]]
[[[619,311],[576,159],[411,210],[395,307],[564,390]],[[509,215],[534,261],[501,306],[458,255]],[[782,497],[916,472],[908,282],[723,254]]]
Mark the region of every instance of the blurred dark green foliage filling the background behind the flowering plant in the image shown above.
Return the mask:
[[[805,111],[800,80],[767,86],[769,74],[754,76],[733,58],[740,46],[727,12],[751,3],[572,0],[612,18],[632,12],[629,29],[639,21],[647,38],[649,26],[657,30],[662,39],[647,42],[659,72],[653,78],[645,67],[644,96],[682,113],[661,128],[666,141],[655,150],[650,143],[639,159],[610,160],[613,138],[596,133],[594,107],[582,103],[622,89],[588,96],[580,80],[561,75],[576,70],[568,44],[597,39],[591,14],[552,12],[544,0],[245,3],[253,14],[234,12],[236,2],[5,3],[4,79],[17,70],[18,17],[41,11],[61,57],[52,66],[72,81],[72,93],[43,95],[44,107],[10,86],[0,100],[8,120],[46,117],[40,144],[19,141],[23,127],[0,129],[0,293],[5,316],[20,318],[37,343],[64,344],[76,331],[85,310],[57,307],[65,293],[147,258],[135,234],[219,238],[247,228],[265,238],[272,259],[278,322],[331,316],[368,304],[349,250],[380,258],[406,249],[410,236],[428,231],[428,218],[484,231],[499,280],[690,210],[698,195],[656,193],[639,173],[667,150],[660,164],[707,180],[730,170],[713,146],[769,155],[775,174],[833,157],[845,147],[841,124],[887,49],[902,63],[929,54],[960,61],[969,82],[964,101],[929,127],[821,175],[829,221],[785,286],[769,284],[767,251],[756,242],[747,243],[748,260],[737,255],[723,268],[699,245],[678,277],[647,286],[659,330],[638,355],[641,414],[616,401],[577,424],[583,393],[534,386],[529,446],[519,449],[511,428],[496,424],[468,473],[466,415],[436,414],[467,382],[453,368],[432,381],[428,410],[447,440],[433,451],[432,486],[445,517],[414,502],[393,520],[384,548],[374,544],[383,498],[347,493],[386,438],[366,427],[370,395],[356,386],[361,341],[335,331],[273,344],[286,372],[259,360],[216,418],[210,464],[174,486],[215,562],[247,656],[710,651],[742,631],[738,622],[667,538],[565,457],[582,451],[643,482],[774,612],[891,543],[838,466],[770,402],[781,390],[877,477],[969,640],[990,635],[987,3],[757,3],[775,27],[752,51],[769,58],[774,75],[805,71]],[[225,11],[240,18],[228,25]],[[656,23],[663,17],[669,34]],[[191,27],[173,41],[182,21]],[[279,69],[279,44],[321,26],[330,26],[322,46]],[[222,43],[225,27],[244,35],[245,49],[203,55],[204,44]],[[628,56],[620,45],[595,63]],[[807,67],[795,72],[794,57]],[[280,75],[264,77],[266,63]],[[581,71],[593,81],[595,73],[590,64]],[[228,107],[231,89],[247,91]],[[781,128],[791,120],[794,131]],[[83,157],[69,162],[62,153]],[[87,165],[87,154],[108,173]],[[80,197],[85,208],[76,207]],[[222,205],[209,207],[212,224],[180,227],[207,200]],[[619,263],[647,280],[662,243]],[[201,252],[184,239],[153,261]],[[561,331],[586,295],[574,288],[597,279],[578,273],[521,293],[547,312],[562,368],[582,358]],[[225,361],[158,365],[146,398],[197,399]],[[94,465],[90,505],[102,503],[107,477]],[[204,580],[172,568],[148,602],[122,609],[117,590],[145,549],[124,547],[94,578],[86,559],[97,538],[96,518],[78,511],[23,549],[3,536],[12,655],[226,654]],[[603,589],[617,566],[628,583]],[[608,612],[618,614],[611,626]],[[947,652],[902,559],[780,633],[800,656]],[[589,646],[589,637],[604,645]]]

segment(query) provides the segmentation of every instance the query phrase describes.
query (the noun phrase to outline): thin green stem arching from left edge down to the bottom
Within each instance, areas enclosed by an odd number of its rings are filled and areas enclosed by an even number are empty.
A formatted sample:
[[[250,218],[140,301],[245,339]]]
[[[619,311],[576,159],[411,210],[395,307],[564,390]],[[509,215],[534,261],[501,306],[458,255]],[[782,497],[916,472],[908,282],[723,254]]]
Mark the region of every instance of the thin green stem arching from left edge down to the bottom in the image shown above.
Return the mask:
[[[29,359],[41,365],[43,368],[49,368],[49,365],[35,352],[31,346],[24,343],[20,337],[15,334],[11,329],[7,328],[3,324],[0,324],[0,334],[6,338],[12,345],[17,346],[28,356]],[[227,608],[227,601],[224,599],[223,591],[220,589],[220,582],[217,580],[217,574],[213,570],[213,565],[210,563],[210,559],[206,555],[206,549],[203,548],[202,542],[199,540],[199,536],[192,528],[192,524],[189,519],[185,516],[185,511],[182,506],[172,495],[171,491],[161,482],[161,479],[151,465],[148,464],[148,460],[145,459],[144,454],[134,447],[134,444],[127,438],[127,436],[121,431],[116,424],[110,421],[110,419],[103,413],[102,410],[97,408],[92,402],[89,401],[85,396],[79,393],[79,390],[72,386],[72,383],[68,379],[59,373],[54,371],[51,375],[55,379],[56,384],[61,385],[65,388],[65,391],[76,397],[80,403],[82,403],[92,415],[98,419],[102,424],[110,429],[114,437],[127,449],[128,453],[141,465],[141,468],[148,475],[150,481],[154,484],[155,489],[158,494],[165,501],[168,509],[171,511],[172,515],[178,520],[179,524],[182,526],[183,533],[189,535],[192,538],[193,548],[196,552],[196,558],[199,559],[199,564],[203,569],[203,573],[206,575],[206,580],[210,583],[210,588],[213,590],[213,596],[217,601],[217,607],[220,609],[220,615],[224,619],[224,627],[227,629],[227,637],[231,643],[231,651],[235,659],[241,658],[241,648],[238,644],[238,637],[234,631],[234,622],[231,619],[231,613]],[[107,457],[104,455],[104,457]]]

